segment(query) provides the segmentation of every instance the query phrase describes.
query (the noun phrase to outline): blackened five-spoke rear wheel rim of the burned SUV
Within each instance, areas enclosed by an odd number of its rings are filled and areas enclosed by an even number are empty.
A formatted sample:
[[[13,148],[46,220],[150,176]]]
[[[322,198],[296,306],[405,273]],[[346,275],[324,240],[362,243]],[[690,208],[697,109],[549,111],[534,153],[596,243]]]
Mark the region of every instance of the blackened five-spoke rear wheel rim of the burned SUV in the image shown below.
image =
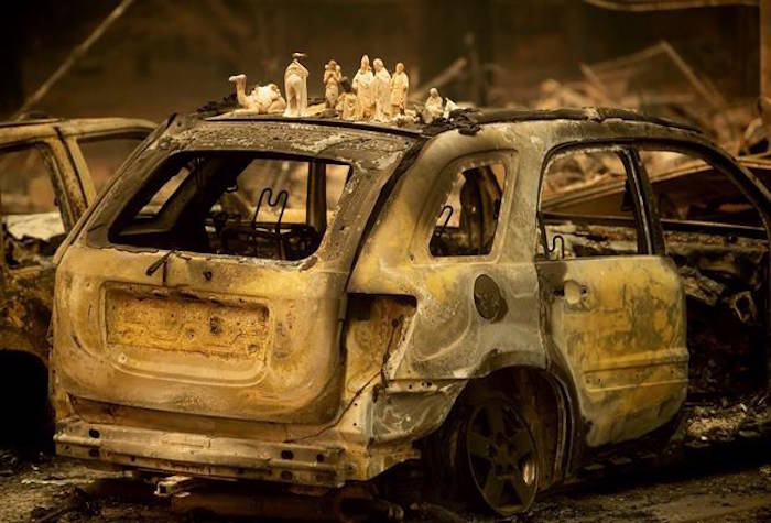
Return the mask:
[[[530,506],[537,488],[535,444],[522,418],[502,401],[478,406],[466,429],[471,479],[485,503],[502,515]]]

